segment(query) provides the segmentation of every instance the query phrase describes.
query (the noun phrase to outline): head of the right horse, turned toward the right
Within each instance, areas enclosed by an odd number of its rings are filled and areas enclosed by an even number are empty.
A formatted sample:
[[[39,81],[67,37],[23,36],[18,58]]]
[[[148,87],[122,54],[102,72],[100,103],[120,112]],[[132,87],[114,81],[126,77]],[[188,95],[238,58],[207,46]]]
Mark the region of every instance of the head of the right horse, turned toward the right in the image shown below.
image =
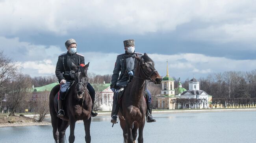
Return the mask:
[[[143,76],[142,78],[153,81],[155,84],[160,84],[162,78],[156,71],[153,60],[149,58],[146,53],[144,53],[141,58],[137,56],[135,56],[135,58],[138,60],[139,67],[141,68],[141,76]]]

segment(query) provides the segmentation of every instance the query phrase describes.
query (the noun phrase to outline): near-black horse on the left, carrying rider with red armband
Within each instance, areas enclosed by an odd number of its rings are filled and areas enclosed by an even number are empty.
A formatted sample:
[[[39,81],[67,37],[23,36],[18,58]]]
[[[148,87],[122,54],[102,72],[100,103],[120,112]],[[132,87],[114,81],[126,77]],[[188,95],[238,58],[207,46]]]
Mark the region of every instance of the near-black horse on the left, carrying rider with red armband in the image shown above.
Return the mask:
[[[50,92],[50,114],[52,118],[53,137],[56,143],[65,142],[65,132],[67,127],[70,125],[69,142],[74,143],[74,129],[76,121],[83,120],[85,129],[85,141],[86,143],[91,142],[90,125],[91,125],[91,109],[92,101],[89,93],[87,92],[87,69],[89,63],[84,67],[76,66],[72,64],[75,69],[74,77],[75,81],[70,87],[69,93],[65,97],[63,103],[63,109],[65,116],[63,119],[57,117],[57,103],[56,96],[60,85],[56,85]],[[55,102],[54,102],[55,100]]]

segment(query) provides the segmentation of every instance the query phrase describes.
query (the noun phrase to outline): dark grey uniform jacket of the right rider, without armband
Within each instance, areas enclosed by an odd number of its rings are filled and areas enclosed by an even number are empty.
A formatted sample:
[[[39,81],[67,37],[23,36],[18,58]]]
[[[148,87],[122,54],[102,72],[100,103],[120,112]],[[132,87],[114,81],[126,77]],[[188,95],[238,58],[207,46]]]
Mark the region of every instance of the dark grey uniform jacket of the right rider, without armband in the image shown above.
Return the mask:
[[[142,56],[141,53],[135,52],[134,54],[130,54],[126,51],[124,54],[117,55],[115,68],[112,74],[112,80],[110,85],[111,88],[118,88],[128,84],[128,72],[135,72],[135,64],[137,63],[137,59],[133,58],[132,55],[139,57]],[[121,72],[120,75],[119,72]]]

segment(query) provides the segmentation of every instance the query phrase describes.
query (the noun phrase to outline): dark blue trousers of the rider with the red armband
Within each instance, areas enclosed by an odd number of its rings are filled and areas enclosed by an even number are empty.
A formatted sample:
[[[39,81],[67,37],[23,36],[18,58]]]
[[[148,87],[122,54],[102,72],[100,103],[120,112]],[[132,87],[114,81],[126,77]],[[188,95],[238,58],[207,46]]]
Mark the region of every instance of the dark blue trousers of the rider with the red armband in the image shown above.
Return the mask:
[[[61,84],[60,85],[60,90],[59,90],[59,96],[58,96],[58,100],[64,100],[65,99],[65,94],[66,94],[66,91],[67,89],[70,87],[71,83],[69,81],[66,81],[66,83],[64,84]],[[90,83],[87,83],[87,89],[89,91],[89,94],[91,96],[91,100],[93,101],[94,103],[94,100],[95,100],[95,90],[93,89],[93,87],[91,86]]]

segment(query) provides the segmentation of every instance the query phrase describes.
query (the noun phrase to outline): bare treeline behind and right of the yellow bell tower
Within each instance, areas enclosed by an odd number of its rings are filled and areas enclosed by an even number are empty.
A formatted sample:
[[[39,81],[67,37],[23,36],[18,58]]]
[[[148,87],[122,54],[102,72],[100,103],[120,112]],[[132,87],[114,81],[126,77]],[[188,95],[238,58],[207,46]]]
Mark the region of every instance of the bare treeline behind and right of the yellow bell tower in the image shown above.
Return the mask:
[[[197,77],[196,77],[197,78]],[[187,79],[182,87],[188,90]],[[228,71],[197,78],[200,90],[213,98],[256,98],[256,70],[250,72]],[[175,82],[177,87],[178,81]]]

